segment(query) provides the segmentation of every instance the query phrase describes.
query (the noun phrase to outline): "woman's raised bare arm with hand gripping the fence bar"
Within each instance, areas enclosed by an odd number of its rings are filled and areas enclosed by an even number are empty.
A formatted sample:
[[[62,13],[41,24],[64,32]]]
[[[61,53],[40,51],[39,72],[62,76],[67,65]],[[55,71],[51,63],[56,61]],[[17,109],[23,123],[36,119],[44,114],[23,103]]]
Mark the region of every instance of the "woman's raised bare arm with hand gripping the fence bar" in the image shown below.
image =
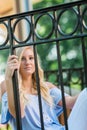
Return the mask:
[[[13,93],[13,83],[12,83],[12,76],[15,70],[19,69],[19,63],[17,60],[17,56],[12,55],[9,56],[7,61],[6,73],[5,73],[5,84],[7,87],[7,96],[8,96],[8,107],[9,112],[15,117],[15,105],[14,105],[14,93]],[[24,109],[21,102],[21,116],[24,115]]]

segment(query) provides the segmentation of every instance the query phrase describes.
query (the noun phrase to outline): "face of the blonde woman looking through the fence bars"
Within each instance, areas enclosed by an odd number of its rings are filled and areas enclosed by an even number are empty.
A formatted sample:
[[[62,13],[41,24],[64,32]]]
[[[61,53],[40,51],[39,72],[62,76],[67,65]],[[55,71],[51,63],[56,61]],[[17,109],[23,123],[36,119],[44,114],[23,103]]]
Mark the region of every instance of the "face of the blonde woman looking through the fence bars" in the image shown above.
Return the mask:
[[[20,73],[23,77],[32,75],[35,72],[34,64],[34,53],[32,48],[27,48],[24,50],[21,64],[20,64]]]

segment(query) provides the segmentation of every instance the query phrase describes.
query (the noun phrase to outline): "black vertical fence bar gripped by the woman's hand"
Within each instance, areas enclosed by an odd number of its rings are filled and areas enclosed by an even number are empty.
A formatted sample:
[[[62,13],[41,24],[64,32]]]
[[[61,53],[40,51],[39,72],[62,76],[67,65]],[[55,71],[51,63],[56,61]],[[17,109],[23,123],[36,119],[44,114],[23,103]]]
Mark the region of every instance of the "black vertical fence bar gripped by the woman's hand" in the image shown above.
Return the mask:
[[[11,55],[15,54],[15,50],[13,49],[13,32],[11,28],[11,20],[8,21],[8,32],[9,32],[9,41],[10,41],[10,53]],[[18,75],[17,70],[14,71],[12,77],[13,83],[13,96],[14,96],[14,104],[15,104],[15,115],[16,115],[16,126],[17,130],[22,130],[22,122],[21,122],[21,111],[20,111],[20,98],[19,98],[19,86],[18,86]]]

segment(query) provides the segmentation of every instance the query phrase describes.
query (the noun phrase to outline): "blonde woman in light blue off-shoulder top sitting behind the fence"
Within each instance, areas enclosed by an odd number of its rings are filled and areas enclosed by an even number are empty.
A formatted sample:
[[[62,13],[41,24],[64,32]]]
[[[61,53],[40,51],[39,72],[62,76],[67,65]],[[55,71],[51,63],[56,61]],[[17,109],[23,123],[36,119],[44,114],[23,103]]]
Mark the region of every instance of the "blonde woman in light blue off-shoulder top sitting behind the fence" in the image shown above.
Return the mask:
[[[32,47],[24,47],[17,51],[17,56],[9,56],[5,73],[6,92],[2,96],[1,122],[12,125],[16,130],[15,106],[13,98],[12,75],[18,70],[21,120],[23,130],[41,130],[38,94],[35,77],[34,52]],[[49,82],[44,81],[43,70],[38,61],[38,72],[41,89],[42,110],[45,130],[65,130],[58,121],[63,112],[61,91]],[[79,96],[65,94],[67,108],[72,112],[68,118],[69,130],[87,130],[87,89]]]

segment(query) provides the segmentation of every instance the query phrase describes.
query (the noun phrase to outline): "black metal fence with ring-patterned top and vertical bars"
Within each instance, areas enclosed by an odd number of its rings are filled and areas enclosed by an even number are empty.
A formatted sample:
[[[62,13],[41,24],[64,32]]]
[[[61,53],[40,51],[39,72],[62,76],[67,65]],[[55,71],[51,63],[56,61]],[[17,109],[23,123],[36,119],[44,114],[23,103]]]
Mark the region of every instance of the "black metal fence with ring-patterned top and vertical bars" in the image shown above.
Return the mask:
[[[62,16],[64,13],[70,12],[71,15],[74,15],[75,22],[73,28],[70,31],[61,26]],[[49,33],[45,36],[41,35],[38,32],[38,23],[43,17],[48,18],[48,22],[51,24]],[[39,78],[38,78],[38,67],[37,67],[37,58],[36,58],[36,47],[40,44],[52,44],[56,43],[57,49],[57,61],[58,61],[58,70],[55,71],[46,71],[46,79],[49,77],[49,74],[56,74],[55,83],[59,81],[61,86],[63,107],[64,107],[64,120],[66,130],[68,130],[67,125],[67,114],[66,114],[66,104],[64,99],[64,85],[70,85],[70,80],[73,72],[78,72],[80,84],[82,88],[87,86],[87,1],[82,0],[78,2],[62,4],[54,7],[38,9],[26,13],[16,14],[12,16],[7,16],[0,18],[0,25],[2,25],[6,31],[5,41],[0,45],[0,50],[9,49],[11,54],[14,54],[14,50],[23,46],[33,45],[34,54],[35,54],[35,64],[36,64],[36,74],[37,74],[37,90],[38,90],[38,99],[39,99],[39,108],[40,108],[40,117],[41,117],[41,129],[44,130],[43,115],[42,115],[42,104],[39,88]],[[27,35],[22,39],[20,33],[20,22],[24,20],[28,27]],[[18,26],[19,25],[19,26]],[[17,28],[18,27],[18,28]],[[22,26],[21,26],[22,27]],[[19,30],[18,30],[19,29]],[[80,39],[81,52],[83,58],[83,67],[82,68],[71,68],[63,69],[61,62],[61,53],[60,53],[60,42],[70,39]],[[63,72],[67,73],[67,79],[64,81]],[[20,116],[20,101],[19,93],[17,92],[17,74],[16,71],[13,75],[13,89],[14,89],[14,100],[15,100],[15,110],[16,110],[16,122],[17,130],[22,130],[21,125],[21,116]],[[77,83],[78,81],[76,81]]]

